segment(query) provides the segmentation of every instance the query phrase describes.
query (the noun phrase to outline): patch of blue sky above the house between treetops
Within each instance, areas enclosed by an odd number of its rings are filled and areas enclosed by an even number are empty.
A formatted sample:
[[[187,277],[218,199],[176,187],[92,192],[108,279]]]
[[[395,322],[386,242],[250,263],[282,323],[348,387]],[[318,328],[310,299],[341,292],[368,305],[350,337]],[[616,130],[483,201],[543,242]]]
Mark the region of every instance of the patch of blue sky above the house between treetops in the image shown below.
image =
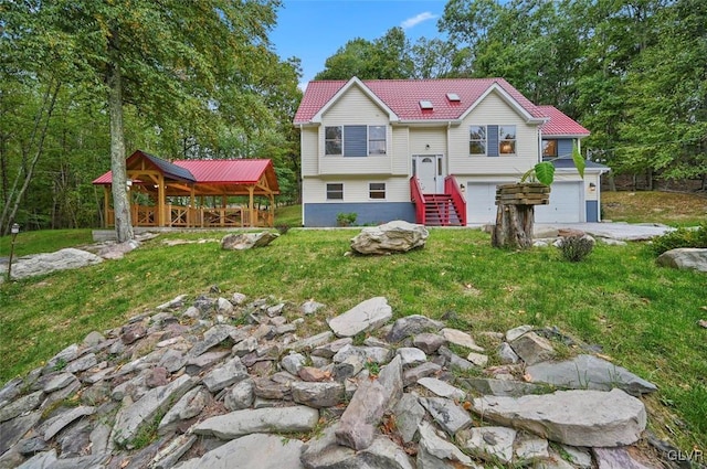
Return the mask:
[[[439,35],[436,22],[445,0],[284,0],[271,33],[277,54],[302,60],[306,84],[324,70],[324,62],[347,41],[374,40],[402,26],[414,43]]]

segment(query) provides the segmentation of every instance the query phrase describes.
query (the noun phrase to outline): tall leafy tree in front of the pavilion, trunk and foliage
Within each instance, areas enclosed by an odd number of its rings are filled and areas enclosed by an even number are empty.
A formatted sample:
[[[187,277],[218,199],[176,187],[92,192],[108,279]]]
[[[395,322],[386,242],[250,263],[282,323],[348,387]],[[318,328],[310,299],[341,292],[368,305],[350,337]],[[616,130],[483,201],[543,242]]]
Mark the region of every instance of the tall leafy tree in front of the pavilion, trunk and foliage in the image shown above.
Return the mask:
[[[208,115],[219,87],[244,89],[251,70],[271,53],[267,31],[277,0],[154,2],[23,2],[17,17],[25,36],[55,52],[63,39],[76,83],[103,96],[110,122],[110,168],[116,234],[134,236],[126,190],[124,108],[154,121]],[[30,25],[28,28],[28,24]],[[49,35],[40,34],[42,24]],[[66,47],[68,45],[68,47]],[[241,85],[241,86],[239,86]],[[243,94],[243,93],[241,93]],[[250,115],[247,99],[240,109]]]

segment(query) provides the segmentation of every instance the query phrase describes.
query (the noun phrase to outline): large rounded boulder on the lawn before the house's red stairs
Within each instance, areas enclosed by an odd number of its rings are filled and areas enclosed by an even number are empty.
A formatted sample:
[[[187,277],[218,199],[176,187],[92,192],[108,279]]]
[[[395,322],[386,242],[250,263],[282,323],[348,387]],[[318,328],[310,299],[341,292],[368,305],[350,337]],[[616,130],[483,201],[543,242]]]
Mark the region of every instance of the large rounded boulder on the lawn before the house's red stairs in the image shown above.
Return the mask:
[[[407,253],[423,247],[430,233],[423,225],[395,220],[380,226],[366,227],[351,239],[359,254]]]

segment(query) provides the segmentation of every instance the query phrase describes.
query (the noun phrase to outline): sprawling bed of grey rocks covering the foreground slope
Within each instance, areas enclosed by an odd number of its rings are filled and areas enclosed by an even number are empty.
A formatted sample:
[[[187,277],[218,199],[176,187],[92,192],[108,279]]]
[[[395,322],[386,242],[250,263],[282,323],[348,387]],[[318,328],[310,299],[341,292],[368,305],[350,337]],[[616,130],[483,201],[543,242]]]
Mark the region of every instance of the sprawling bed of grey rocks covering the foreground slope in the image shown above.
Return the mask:
[[[0,468],[677,467],[646,430],[656,387],[595,347],[383,297],[304,333],[323,311],[214,288],[92,332],[0,388]]]

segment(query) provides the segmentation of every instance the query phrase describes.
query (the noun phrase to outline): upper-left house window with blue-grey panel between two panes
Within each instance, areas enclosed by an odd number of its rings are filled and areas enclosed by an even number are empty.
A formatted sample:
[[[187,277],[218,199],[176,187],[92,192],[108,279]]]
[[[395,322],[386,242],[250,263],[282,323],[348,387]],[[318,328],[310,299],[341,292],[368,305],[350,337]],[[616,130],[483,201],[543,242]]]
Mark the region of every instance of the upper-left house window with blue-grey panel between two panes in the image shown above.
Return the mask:
[[[368,157],[387,153],[386,126],[331,126],[324,128],[324,153]]]

